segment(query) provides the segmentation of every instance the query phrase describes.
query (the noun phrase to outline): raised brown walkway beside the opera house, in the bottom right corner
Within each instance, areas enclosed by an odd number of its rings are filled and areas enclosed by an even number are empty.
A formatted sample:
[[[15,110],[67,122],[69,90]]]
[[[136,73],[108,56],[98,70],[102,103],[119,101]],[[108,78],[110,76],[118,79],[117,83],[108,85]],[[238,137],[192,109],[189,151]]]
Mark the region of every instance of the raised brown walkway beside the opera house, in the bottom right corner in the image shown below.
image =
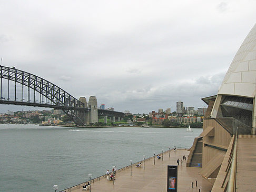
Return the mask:
[[[256,138],[238,139],[237,192],[256,191]]]

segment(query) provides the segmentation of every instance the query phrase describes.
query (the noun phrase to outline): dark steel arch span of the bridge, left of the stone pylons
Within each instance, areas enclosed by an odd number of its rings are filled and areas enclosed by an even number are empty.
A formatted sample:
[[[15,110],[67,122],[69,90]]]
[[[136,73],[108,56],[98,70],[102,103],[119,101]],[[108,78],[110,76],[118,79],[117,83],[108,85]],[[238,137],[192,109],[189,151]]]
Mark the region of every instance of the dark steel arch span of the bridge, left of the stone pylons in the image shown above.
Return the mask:
[[[85,113],[90,109],[48,80],[15,67],[5,66],[0,66],[0,77],[0,104],[62,109],[66,115],[72,117],[75,124],[85,125]],[[5,84],[3,79],[7,81]],[[20,84],[21,87],[17,84]],[[7,87],[7,93],[3,93],[4,85]]]

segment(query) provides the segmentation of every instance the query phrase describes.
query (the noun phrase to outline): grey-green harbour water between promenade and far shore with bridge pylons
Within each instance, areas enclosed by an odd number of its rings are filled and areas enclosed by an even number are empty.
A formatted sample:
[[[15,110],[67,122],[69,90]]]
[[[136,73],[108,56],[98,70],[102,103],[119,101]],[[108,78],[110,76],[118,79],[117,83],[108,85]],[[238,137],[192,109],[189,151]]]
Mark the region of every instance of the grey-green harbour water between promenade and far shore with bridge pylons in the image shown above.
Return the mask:
[[[202,129],[184,128],[69,128],[0,125],[0,191],[65,189],[153,156],[176,145],[192,146]]]

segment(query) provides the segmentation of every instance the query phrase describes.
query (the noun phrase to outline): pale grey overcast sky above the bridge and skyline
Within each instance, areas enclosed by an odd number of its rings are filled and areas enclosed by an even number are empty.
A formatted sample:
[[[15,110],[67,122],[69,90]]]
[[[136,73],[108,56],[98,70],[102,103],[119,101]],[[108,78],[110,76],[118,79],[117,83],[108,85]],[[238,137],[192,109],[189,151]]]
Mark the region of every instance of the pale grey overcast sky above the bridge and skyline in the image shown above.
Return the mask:
[[[218,93],[256,1],[0,0],[3,66],[25,70],[77,99],[149,113],[206,106]],[[27,109],[1,105],[7,110]]]

